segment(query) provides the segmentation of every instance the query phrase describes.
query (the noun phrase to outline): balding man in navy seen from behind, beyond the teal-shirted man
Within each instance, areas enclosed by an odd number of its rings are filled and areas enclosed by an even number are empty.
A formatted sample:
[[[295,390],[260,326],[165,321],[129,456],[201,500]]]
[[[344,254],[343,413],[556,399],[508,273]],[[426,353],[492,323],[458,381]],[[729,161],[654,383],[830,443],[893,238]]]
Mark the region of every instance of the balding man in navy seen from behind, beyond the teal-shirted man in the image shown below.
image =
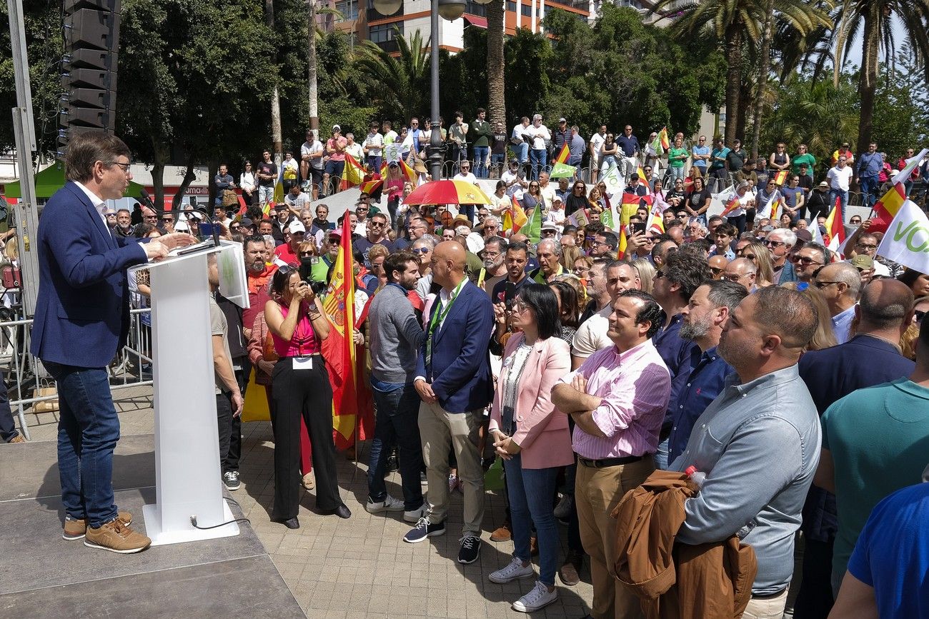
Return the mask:
[[[829,316],[819,316],[829,320]],[[820,416],[845,395],[909,376],[915,364],[900,355],[900,336],[913,319],[913,293],[896,279],[877,279],[855,307],[848,342],[800,358],[802,378]],[[832,606],[832,545],[837,530],[835,495],[810,487],[804,505],[803,580],[795,616],[825,617]]]

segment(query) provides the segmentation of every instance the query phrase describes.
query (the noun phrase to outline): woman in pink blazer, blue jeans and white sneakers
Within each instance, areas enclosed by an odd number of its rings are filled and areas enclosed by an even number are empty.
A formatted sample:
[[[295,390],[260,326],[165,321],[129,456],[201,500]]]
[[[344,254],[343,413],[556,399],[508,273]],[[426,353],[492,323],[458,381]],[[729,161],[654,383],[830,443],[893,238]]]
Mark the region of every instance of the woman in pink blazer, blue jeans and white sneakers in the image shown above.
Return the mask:
[[[503,309],[498,310],[503,314]],[[498,316],[498,319],[504,316]],[[505,318],[504,318],[505,319]],[[506,342],[504,367],[491,409],[491,435],[504,458],[513,561],[490,575],[491,582],[508,583],[535,575],[530,562],[530,528],[539,540],[539,579],[514,602],[513,609],[532,613],[557,600],[555,571],[558,531],[552,497],[559,467],[574,461],[568,418],[552,404],[552,386],[570,371],[567,342],[558,334],[558,301],[542,284],[529,284],[513,304],[514,333]]]

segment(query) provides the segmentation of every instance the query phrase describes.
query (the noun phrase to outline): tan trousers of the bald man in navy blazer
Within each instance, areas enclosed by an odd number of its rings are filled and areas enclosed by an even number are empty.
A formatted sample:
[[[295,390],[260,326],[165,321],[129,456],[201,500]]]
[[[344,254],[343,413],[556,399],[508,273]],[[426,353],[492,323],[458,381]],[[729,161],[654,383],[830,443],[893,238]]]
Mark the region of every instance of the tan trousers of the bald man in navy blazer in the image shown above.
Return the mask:
[[[419,405],[419,436],[423,443],[425,500],[429,522],[445,520],[449,510],[449,449],[458,460],[458,479],[464,492],[463,534],[480,537],[484,519],[484,470],[480,466],[478,430],[482,411],[449,413],[438,404]]]

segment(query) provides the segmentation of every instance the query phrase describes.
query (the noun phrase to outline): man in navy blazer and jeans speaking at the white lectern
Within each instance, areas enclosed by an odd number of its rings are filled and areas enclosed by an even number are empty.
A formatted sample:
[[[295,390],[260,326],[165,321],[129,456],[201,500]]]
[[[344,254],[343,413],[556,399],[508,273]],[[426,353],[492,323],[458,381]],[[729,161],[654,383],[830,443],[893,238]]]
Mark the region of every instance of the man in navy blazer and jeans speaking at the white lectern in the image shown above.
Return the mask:
[[[119,419],[106,367],[129,330],[127,266],[164,258],[193,242],[176,233],[148,243],[111,233],[106,201],[123,197],[130,152],[113,135],[86,133],[68,146],[68,183],[39,219],[39,293],[33,353],[57,381],[64,538],[119,553],[148,548],[113,503],[112,452]]]

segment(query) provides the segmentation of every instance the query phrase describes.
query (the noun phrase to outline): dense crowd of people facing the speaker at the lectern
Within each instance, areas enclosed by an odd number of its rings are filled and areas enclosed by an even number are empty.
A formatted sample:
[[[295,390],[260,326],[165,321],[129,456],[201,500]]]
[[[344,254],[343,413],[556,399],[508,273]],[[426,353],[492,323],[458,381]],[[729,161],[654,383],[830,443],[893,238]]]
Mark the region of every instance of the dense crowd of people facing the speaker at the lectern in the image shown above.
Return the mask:
[[[520,126],[530,132],[527,121]],[[450,135],[464,134],[453,127]],[[530,165],[544,161],[535,146],[526,148]],[[772,168],[796,163],[783,150]],[[364,508],[402,512],[412,524],[404,542],[445,535],[451,493],[460,491],[457,561],[477,561],[485,473],[501,458],[507,515],[490,540],[512,540],[514,551],[489,578],[536,579],[513,608],[542,609],[557,599],[556,578],[574,586],[588,568],[591,616],[639,616],[640,598],[617,567],[632,542],[618,538],[615,514],[654,471],[695,480],[685,472],[693,467],[705,479],[691,482],[674,540],[708,552],[747,546],[756,564],[742,608],[730,614],[780,616],[802,576],[795,617],[850,616],[850,608],[918,616],[927,555],[917,519],[927,498],[904,488],[927,464],[929,274],[877,255],[882,235],[860,217],[849,219],[857,227],[844,259],[813,241],[825,214],[813,197],[835,189],[832,170],[847,167],[851,153],[838,151],[826,187],[801,183],[804,173],[768,189],[772,172],[760,176],[742,161],[743,193],[760,201],[781,192],[777,219],[752,218],[748,200],[742,213],[708,216],[702,181],[714,177],[712,153],[702,160],[708,174],[694,174],[694,162],[687,190],[677,188],[687,179],[674,176],[662,193],[661,233],[644,200],[627,223],[605,224],[601,200],[618,198],[607,187],[556,186],[544,163],[523,174],[521,161],[473,217],[449,205],[405,205],[412,187],[401,187],[387,212],[362,194],[338,226],[325,205],[311,210],[295,199],[276,204],[273,217],[259,205],[234,218],[217,206],[214,222],[242,242],[252,302],[242,312],[217,299],[214,312],[217,404],[232,412],[219,413],[224,483],[240,486],[236,411],[254,368],[275,441],[272,520],[300,526],[300,484],[315,485],[323,513],[351,516],[338,491],[321,355],[329,334],[322,297],[347,228],[353,309],[369,312],[353,336],[369,355],[376,415]],[[644,197],[635,169],[655,161],[639,154],[623,192]],[[468,163],[458,160],[462,171]],[[504,229],[504,212],[512,218],[517,204],[541,205],[537,238]],[[142,217],[136,236],[176,239],[178,226],[203,225],[145,209]],[[387,491],[391,470],[402,498]],[[563,557],[559,522],[567,526]],[[886,522],[896,523],[892,531]],[[794,574],[798,538],[802,574]],[[726,587],[745,583],[733,576]]]

